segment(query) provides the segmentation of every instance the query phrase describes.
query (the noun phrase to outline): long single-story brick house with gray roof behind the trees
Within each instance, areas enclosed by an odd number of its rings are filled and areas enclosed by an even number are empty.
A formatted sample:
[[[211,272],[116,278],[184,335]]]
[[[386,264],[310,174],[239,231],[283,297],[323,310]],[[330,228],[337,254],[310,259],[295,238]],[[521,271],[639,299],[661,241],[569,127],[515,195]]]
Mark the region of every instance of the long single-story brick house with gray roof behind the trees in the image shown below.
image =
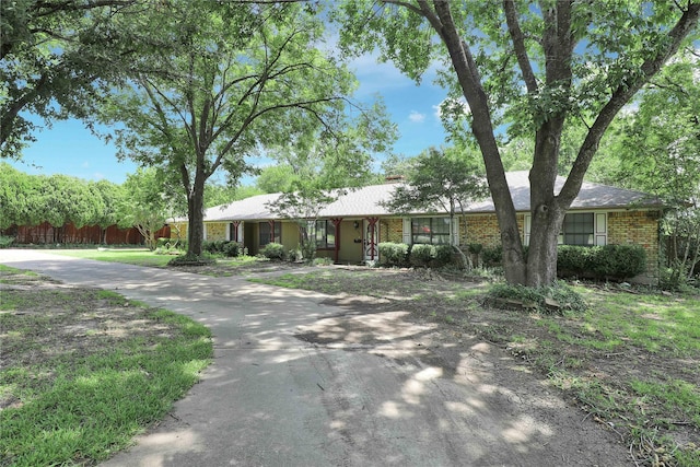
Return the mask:
[[[506,179],[517,211],[523,242],[528,244],[530,209],[528,172],[510,172]],[[558,177],[558,189],[564,178]],[[399,182],[400,183],[400,182]],[[445,212],[389,212],[383,201],[390,199],[397,183],[347,190],[318,213],[316,241],[318,256],[340,264],[378,259],[381,242],[447,243],[450,219]],[[205,212],[205,238],[241,242],[249,254],[257,254],[270,242],[288,249],[299,244],[298,224],[271,212],[270,203],[280,194],[259,195]],[[658,265],[658,219],[663,207],[644,192],[584,183],[572,203],[559,237],[568,245],[639,244],[648,253],[648,273],[655,276]],[[172,235],[187,236],[186,222],[171,224]],[[465,206],[455,219],[457,245],[500,244],[495,210],[490,198]]]

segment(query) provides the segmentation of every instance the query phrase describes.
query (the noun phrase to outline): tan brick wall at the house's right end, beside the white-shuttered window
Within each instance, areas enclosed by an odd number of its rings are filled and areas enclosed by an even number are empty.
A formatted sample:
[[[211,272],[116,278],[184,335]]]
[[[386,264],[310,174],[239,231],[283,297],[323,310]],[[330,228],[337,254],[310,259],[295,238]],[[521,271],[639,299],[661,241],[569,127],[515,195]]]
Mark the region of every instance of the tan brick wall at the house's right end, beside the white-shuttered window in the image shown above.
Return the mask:
[[[646,278],[658,277],[658,211],[608,213],[608,244],[641,245],[646,252]]]

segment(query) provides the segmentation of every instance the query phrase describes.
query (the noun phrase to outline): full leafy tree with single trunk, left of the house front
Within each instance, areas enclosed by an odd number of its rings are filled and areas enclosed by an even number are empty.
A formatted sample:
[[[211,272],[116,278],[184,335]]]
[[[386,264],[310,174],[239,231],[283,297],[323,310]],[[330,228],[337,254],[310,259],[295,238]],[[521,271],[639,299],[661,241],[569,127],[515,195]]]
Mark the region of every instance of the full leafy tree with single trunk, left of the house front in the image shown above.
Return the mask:
[[[125,127],[116,131],[119,156],[179,178],[188,255],[201,254],[203,190],[217,171],[234,185],[261,148],[340,136],[355,82],[315,47],[323,23],[313,13],[296,3],[183,0],[144,25],[168,45],[141,58],[135,69],[150,71],[114,93],[102,120]]]

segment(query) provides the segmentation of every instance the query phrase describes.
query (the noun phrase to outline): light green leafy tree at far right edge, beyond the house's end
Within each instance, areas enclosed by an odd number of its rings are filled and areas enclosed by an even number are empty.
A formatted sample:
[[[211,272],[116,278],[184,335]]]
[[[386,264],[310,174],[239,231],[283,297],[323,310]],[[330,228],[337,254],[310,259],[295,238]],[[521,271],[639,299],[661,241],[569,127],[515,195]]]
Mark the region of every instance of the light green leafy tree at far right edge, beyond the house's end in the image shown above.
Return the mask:
[[[658,196],[667,212],[668,238],[664,278],[678,287],[700,260],[700,74],[695,51],[673,60],[623,119],[616,139],[620,184]]]

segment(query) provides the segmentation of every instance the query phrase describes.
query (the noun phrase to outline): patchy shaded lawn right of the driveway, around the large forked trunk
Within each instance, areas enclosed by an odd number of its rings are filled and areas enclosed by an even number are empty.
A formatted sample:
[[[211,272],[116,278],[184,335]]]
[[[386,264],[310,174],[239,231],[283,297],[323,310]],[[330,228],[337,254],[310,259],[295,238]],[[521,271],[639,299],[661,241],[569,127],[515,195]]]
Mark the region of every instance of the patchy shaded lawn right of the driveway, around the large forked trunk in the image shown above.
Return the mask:
[[[620,437],[638,466],[700,466],[700,296],[570,285],[585,311],[488,305],[488,282],[431,270],[329,268],[250,279],[336,295],[357,313],[410,312],[440,325],[442,345],[472,335],[511,352]],[[366,301],[348,296],[371,296]],[[303,336],[313,340],[313,336]]]

